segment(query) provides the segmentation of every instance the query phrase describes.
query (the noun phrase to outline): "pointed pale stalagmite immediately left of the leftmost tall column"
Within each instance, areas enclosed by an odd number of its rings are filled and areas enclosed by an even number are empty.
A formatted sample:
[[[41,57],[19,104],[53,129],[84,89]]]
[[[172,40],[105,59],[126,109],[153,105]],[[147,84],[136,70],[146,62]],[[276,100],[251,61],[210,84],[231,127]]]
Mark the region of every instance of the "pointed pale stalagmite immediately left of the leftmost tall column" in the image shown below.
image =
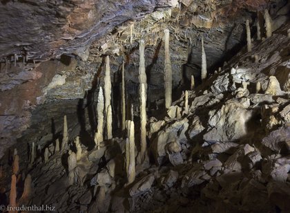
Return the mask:
[[[97,98],[97,131],[95,133],[96,148],[99,149],[99,143],[104,140],[103,138],[104,128],[104,95],[103,89],[99,88],[99,95]]]

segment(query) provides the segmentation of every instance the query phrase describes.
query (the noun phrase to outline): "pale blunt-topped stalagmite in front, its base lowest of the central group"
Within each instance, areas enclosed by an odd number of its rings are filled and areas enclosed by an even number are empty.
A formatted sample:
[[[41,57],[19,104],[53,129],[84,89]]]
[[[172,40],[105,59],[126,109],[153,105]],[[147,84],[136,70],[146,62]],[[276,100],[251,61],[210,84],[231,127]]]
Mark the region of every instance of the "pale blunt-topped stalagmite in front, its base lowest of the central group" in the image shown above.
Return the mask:
[[[135,180],[135,127],[134,122],[128,120],[126,123],[128,140],[126,140],[126,174],[127,185]]]

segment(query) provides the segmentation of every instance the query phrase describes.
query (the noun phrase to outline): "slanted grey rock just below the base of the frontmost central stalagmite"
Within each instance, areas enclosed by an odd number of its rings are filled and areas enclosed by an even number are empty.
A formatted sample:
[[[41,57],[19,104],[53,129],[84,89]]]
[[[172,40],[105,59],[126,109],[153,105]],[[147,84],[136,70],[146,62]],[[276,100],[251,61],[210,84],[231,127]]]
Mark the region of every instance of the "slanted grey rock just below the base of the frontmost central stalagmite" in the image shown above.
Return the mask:
[[[139,180],[135,185],[129,190],[131,196],[139,196],[144,192],[147,192],[151,189],[155,177],[153,175],[148,175]]]

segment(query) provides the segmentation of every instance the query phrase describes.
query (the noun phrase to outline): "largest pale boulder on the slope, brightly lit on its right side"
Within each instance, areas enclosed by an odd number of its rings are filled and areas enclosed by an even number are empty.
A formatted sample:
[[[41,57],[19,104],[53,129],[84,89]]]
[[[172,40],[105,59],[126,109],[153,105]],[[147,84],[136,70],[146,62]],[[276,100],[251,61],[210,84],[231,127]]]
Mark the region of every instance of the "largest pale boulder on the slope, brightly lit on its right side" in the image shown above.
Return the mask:
[[[247,135],[247,122],[252,111],[242,104],[224,104],[218,111],[209,112],[209,130],[204,134],[207,142],[229,142]]]

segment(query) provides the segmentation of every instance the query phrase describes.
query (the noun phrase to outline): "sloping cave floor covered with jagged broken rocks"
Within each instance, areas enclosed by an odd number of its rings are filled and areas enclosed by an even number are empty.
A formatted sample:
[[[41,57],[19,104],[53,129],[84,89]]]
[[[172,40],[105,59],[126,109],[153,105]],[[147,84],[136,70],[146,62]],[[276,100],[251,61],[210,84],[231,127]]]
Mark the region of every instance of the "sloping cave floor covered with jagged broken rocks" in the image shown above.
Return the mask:
[[[164,118],[149,118],[148,156],[131,185],[122,138],[83,145],[74,185],[67,152],[52,144],[48,162],[38,158],[19,175],[19,194],[32,176],[32,194],[21,202],[58,212],[290,212],[289,28],[254,41],[251,53],[242,50],[188,91],[188,109],[183,94]],[[137,150],[138,138],[136,130]],[[1,170],[3,201],[8,171]]]

